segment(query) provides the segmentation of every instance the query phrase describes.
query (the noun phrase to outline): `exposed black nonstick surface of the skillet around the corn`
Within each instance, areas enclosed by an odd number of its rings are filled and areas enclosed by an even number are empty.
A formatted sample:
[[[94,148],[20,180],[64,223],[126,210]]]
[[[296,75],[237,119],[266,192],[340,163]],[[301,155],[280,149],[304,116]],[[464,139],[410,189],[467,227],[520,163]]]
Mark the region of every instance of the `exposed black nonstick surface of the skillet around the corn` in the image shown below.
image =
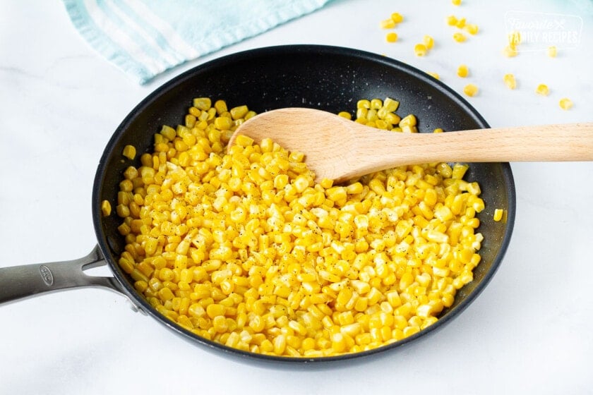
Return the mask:
[[[479,181],[486,209],[478,217],[484,234],[481,263],[474,281],[462,288],[455,304],[424,331],[395,344],[365,353],[330,358],[280,358],[245,353],[201,339],[162,317],[136,293],[133,281],[117,265],[124,240],[117,231],[119,217],[102,217],[100,202],[116,201],[122,172],[138,166],[140,154],[152,151],[153,135],[162,125],[182,123],[193,97],[224,99],[230,107],[247,104],[256,112],[282,107],[311,107],[337,113],[355,111],[358,99],[392,97],[400,101],[398,114],[415,114],[421,132],[434,128],[464,130],[489,128],[465,99],[453,90],[411,66],[377,54],[354,49],[314,45],[269,47],[244,51],[210,61],[162,85],[131,111],[115,131],[95,177],[92,215],[102,253],[128,296],[145,312],[184,338],[232,356],[248,356],[272,362],[311,363],[348,360],[400,347],[435,332],[459,315],[484,289],[496,272],[513,230],[515,186],[507,163],[471,164],[466,178]],[[125,145],[135,145],[136,162],[122,157]],[[124,160],[125,159],[125,160]],[[506,221],[493,221],[493,210],[507,210]],[[484,312],[487,314],[488,312]]]

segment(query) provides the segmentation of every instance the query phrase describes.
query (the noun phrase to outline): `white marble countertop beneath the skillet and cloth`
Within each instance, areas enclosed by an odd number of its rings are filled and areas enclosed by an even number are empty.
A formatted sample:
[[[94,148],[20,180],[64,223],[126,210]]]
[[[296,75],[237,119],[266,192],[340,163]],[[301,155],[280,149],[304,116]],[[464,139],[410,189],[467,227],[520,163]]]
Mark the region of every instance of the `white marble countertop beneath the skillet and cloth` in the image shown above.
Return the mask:
[[[457,90],[477,83],[469,101],[491,126],[592,121],[593,16],[573,4],[334,1],[138,86],[83,42],[59,1],[0,1],[0,267],[88,253],[92,181],[114,128],[167,79],[234,51],[366,49],[436,71]],[[512,10],[580,15],[581,42],[556,59],[505,58]],[[388,44],[378,23],[393,11],[406,22],[400,42]],[[479,35],[453,42],[444,22],[451,13],[479,24]],[[437,44],[417,58],[412,46],[424,34]],[[470,67],[468,80],[455,75],[460,63]],[[501,82],[508,72],[515,91]],[[540,82],[549,97],[534,94]],[[570,111],[558,107],[563,96],[575,102]],[[592,394],[593,164],[512,168],[517,219],[505,260],[484,293],[426,341],[337,369],[270,370],[192,346],[116,293],[79,289],[0,306],[0,394]]]

